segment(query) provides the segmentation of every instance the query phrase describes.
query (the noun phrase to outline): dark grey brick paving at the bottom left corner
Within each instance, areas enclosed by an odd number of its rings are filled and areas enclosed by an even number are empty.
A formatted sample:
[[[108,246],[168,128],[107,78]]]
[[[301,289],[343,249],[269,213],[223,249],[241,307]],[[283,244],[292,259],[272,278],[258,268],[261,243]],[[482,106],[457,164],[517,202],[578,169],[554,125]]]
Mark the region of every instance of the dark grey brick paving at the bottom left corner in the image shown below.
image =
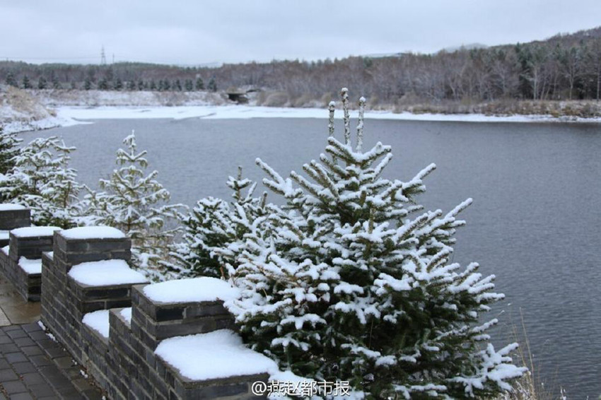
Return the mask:
[[[0,327],[0,400],[103,398],[37,323]]]

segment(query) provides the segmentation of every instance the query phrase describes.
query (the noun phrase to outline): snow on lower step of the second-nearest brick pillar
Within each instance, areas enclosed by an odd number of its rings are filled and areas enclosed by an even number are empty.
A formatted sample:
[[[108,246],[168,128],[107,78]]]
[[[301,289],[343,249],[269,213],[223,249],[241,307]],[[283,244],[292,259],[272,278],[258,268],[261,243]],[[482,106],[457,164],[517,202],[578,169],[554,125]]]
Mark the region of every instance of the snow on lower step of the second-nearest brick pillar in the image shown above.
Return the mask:
[[[69,276],[79,283],[89,286],[146,283],[144,275],[129,268],[127,262],[119,259],[91,261],[77,264],[71,268]]]

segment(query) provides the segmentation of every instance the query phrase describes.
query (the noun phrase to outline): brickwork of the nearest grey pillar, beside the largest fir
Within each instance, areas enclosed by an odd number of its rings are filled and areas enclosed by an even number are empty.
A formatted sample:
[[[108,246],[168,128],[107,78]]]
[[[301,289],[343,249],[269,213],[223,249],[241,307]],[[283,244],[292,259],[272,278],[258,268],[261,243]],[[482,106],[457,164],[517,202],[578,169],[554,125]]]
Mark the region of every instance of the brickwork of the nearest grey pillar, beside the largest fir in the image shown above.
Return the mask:
[[[235,330],[233,316],[221,300],[202,302],[158,302],[132,288],[131,365],[138,371],[129,382],[134,396],[159,399],[256,399],[250,384],[267,381],[266,374],[235,376],[211,381],[194,381],[154,354],[158,343],[175,336],[204,334],[218,329]],[[122,352],[124,353],[124,352]],[[202,363],[202,360],[198,360]]]

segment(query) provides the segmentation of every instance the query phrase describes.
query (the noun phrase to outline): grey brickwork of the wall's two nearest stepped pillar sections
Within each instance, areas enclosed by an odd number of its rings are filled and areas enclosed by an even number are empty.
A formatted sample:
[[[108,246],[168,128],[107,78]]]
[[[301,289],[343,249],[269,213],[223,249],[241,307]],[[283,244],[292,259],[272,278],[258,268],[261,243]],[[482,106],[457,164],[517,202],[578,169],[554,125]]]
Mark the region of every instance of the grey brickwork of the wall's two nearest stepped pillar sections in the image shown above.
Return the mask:
[[[85,228],[83,228],[85,229]],[[70,240],[54,236],[42,263],[42,322],[105,389],[109,399],[252,399],[250,384],[267,375],[194,381],[154,351],[163,339],[233,328],[222,302],[153,302],[145,285],[82,286],[69,270],[86,261],[129,259],[129,239]],[[127,320],[122,307],[132,307]],[[88,312],[110,310],[109,336],[82,323]],[[202,360],[199,360],[202,362]]]

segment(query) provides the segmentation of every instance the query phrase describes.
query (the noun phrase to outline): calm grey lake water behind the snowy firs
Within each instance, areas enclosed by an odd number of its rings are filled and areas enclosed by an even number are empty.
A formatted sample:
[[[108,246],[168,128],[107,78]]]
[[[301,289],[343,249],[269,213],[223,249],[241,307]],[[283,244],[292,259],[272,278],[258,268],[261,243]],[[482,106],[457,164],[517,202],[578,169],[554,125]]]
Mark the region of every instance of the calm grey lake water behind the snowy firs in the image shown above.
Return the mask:
[[[229,199],[228,175],[242,165],[259,180],[262,158],[282,175],[317,158],[326,119],[102,120],[25,134],[60,135],[76,146],[72,165],[95,185],[115,168],[115,151],[132,129],[173,201]],[[342,126],[337,127],[342,136]],[[467,226],[455,260],[478,261],[506,294],[497,346],[523,315],[536,375],[568,399],[601,394],[601,126],[560,123],[366,122],[366,145],[395,155],[385,177],[411,179],[429,163],[428,208],[448,211],[467,197]],[[366,148],[365,146],[364,148]],[[272,196],[273,198],[273,196]]]

